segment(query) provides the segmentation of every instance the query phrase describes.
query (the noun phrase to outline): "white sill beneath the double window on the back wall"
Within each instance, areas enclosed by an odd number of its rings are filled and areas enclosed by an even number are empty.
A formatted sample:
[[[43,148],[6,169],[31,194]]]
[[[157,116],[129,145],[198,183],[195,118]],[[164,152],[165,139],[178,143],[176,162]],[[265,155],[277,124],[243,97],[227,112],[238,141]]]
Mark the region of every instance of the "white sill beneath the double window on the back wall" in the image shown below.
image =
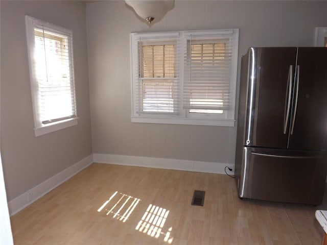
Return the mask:
[[[143,122],[148,124],[179,124],[179,125],[202,125],[202,126],[223,126],[234,127],[234,119],[199,119],[199,118],[172,118],[172,117],[146,117],[131,116],[132,122]]]

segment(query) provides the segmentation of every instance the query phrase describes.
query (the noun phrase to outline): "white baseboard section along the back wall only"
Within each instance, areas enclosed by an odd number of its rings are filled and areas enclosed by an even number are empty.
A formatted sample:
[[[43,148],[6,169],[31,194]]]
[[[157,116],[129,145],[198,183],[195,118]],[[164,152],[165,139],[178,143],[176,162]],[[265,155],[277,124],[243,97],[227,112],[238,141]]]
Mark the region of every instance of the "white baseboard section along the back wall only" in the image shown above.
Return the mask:
[[[93,161],[98,163],[129,165],[138,167],[154,167],[215,174],[225,174],[225,166],[233,165],[230,163],[227,164],[218,162],[199,162],[192,160],[122,156],[109,154],[93,154]],[[231,174],[233,174],[233,172],[231,172]]]

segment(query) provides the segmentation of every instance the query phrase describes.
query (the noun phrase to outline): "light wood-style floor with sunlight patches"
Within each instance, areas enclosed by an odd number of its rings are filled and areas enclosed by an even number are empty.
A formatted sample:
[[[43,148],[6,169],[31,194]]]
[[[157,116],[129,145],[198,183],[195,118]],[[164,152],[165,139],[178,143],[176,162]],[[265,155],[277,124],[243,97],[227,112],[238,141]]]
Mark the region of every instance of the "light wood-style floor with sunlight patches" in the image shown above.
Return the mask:
[[[93,163],[11,223],[15,244],[320,245],[320,208],[239,200],[226,175]]]

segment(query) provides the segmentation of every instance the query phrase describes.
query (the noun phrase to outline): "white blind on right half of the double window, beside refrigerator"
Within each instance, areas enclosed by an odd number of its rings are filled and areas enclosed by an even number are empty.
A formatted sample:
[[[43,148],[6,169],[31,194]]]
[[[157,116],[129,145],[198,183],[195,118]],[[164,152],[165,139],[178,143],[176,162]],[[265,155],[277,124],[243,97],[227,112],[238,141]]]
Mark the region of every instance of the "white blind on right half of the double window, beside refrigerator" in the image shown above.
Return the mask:
[[[194,113],[230,109],[232,37],[190,37],[184,50],[183,108]]]

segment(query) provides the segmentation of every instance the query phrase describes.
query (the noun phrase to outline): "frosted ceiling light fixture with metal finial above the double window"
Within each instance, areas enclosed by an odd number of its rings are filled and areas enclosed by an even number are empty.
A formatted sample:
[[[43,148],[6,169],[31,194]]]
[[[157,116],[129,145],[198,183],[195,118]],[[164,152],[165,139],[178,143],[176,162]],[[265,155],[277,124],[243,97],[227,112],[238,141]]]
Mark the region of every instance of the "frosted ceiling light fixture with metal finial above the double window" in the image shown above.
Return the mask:
[[[159,20],[174,8],[175,0],[125,0],[125,3],[151,24],[154,19]]]

